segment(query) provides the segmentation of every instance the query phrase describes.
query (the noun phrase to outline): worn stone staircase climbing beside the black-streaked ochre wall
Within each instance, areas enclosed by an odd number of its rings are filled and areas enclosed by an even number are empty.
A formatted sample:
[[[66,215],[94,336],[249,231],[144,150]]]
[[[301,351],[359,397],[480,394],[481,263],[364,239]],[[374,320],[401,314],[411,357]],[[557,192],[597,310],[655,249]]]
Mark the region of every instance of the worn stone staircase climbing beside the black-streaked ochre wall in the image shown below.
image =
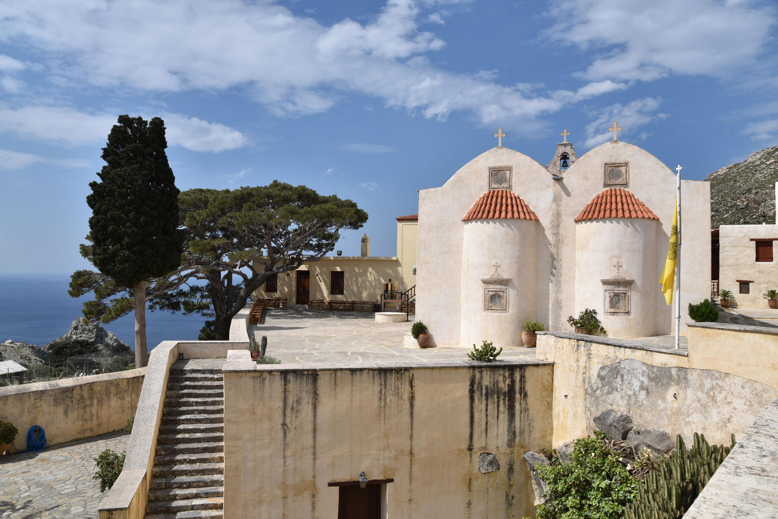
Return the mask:
[[[222,519],[223,507],[221,367],[176,361],[170,367],[145,517]]]

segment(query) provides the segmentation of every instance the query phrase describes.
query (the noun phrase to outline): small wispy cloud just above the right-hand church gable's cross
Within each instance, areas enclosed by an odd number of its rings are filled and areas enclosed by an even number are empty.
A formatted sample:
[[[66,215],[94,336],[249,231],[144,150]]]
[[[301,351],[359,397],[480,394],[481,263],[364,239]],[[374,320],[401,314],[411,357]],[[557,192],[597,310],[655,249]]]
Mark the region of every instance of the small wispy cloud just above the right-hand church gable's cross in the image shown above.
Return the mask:
[[[613,121],[618,121],[622,131],[619,131],[619,141],[626,141],[624,138],[628,135],[636,135],[641,140],[648,137],[646,132],[636,133],[636,130],[649,124],[654,120],[661,120],[668,117],[667,113],[654,113],[661,105],[661,99],[645,97],[635,99],[632,103],[622,106],[620,103],[612,104],[598,114],[598,117],[590,124],[587,124],[587,140],[585,146],[597,146],[603,142],[610,141],[613,138],[613,132],[608,131]]]

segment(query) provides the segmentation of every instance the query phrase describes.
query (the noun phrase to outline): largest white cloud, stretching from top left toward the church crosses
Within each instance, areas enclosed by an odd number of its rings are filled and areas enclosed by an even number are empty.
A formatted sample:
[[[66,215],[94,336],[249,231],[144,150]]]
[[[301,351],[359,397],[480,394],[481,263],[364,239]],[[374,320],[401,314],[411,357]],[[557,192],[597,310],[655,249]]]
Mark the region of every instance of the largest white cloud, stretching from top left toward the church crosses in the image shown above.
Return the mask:
[[[465,111],[482,124],[512,121],[517,131],[530,133],[535,117],[616,88],[598,79],[578,93],[530,95],[492,83],[491,72],[472,76],[432,66],[423,54],[444,42],[419,30],[420,20],[443,16],[442,6],[469,2],[388,0],[367,23],[344,19],[324,26],[272,2],[137,0],[96,7],[38,0],[33,12],[15,0],[0,3],[0,42],[42,54],[61,88],[239,89],[279,116],[321,113],[344,92],[360,92],[427,118]],[[218,140],[222,144],[187,141],[209,151],[240,142],[223,131]]]

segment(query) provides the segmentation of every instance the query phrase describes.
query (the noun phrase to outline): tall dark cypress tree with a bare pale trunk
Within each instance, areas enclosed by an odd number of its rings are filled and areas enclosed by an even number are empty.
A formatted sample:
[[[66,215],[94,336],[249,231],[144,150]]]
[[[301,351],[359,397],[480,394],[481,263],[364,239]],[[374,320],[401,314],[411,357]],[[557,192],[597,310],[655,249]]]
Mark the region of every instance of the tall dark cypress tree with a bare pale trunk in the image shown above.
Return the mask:
[[[145,280],[180,266],[184,235],[178,230],[178,193],[167,163],[165,123],[159,117],[121,115],[108,134],[92,194],[89,239],[92,261],[135,295],[135,366],[148,361]]]

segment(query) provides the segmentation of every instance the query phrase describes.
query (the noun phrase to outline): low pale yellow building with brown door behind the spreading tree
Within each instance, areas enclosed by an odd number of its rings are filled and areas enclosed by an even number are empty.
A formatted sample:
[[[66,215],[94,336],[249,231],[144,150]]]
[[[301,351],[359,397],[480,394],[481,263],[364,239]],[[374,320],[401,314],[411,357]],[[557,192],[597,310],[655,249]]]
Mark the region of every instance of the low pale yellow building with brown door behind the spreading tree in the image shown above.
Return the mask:
[[[379,302],[386,291],[405,292],[416,284],[416,235],[419,216],[397,218],[397,256],[370,256],[370,238],[363,235],[359,256],[324,256],[293,272],[269,277],[254,298],[286,298],[287,305],[310,301]]]

